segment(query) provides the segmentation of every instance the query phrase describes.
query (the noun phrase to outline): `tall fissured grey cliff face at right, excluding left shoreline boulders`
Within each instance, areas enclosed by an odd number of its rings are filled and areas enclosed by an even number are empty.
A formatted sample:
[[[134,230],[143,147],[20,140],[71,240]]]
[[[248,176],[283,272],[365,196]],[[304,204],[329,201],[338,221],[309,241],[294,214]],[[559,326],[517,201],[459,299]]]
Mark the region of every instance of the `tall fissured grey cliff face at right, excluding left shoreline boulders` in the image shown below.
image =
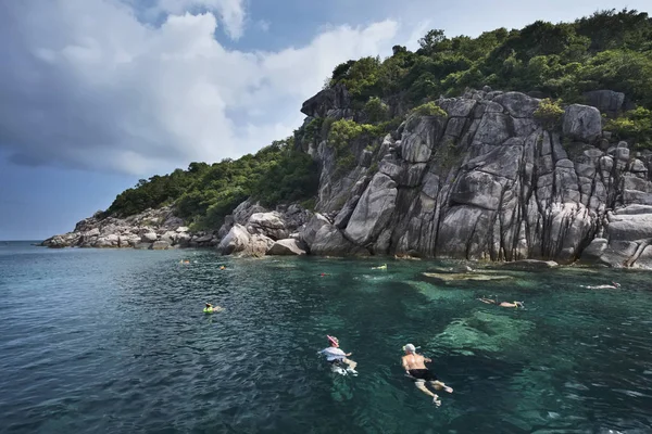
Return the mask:
[[[539,103],[490,89],[440,99],[448,115],[412,116],[388,135],[374,152],[375,174],[359,165],[335,176],[324,144],[315,154],[318,209],[334,220],[309,222],[311,254],[567,264],[587,250],[586,261],[648,260],[648,217],[623,217],[622,209],[652,205],[650,153],[632,157],[627,143],[611,143],[595,106],[568,105],[561,125],[548,129],[535,117]],[[597,237],[603,241],[591,244]]]

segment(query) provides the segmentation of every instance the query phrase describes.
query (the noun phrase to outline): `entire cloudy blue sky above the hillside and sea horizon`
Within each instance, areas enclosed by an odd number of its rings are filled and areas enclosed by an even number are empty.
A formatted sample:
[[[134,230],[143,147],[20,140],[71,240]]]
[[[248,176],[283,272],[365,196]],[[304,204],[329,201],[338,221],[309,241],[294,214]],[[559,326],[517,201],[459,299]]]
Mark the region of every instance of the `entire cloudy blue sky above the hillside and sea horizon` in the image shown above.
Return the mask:
[[[0,240],[42,240],[140,178],[255,152],[349,59],[649,0],[0,1]]]

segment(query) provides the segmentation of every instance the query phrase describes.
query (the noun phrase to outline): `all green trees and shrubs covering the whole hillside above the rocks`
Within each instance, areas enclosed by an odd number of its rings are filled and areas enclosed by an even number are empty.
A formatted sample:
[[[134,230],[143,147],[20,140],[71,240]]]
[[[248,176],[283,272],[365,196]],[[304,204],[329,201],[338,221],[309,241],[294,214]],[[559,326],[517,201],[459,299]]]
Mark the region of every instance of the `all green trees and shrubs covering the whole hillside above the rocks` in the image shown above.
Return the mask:
[[[538,21],[477,38],[448,38],[435,29],[419,44],[416,52],[397,46],[385,60],[363,58],[334,69],[328,86],[346,86],[356,122],[310,119],[293,138],[255,155],[192,163],[187,170],[141,180],[120,194],[106,214],[126,216],[175,203],[180,217],[214,229],[250,196],[266,205],[311,200],[318,168],[296,149],[325,141],[344,173],[358,163],[352,143],[373,149],[405,115],[444,115],[434,100],[484,86],[539,92],[547,99],[535,115],[551,127],[559,125],[562,101],[582,102],[589,90],[624,92],[631,110],[607,119],[605,128],[639,148],[652,148],[652,20],[645,13],[602,11],[574,23]]]

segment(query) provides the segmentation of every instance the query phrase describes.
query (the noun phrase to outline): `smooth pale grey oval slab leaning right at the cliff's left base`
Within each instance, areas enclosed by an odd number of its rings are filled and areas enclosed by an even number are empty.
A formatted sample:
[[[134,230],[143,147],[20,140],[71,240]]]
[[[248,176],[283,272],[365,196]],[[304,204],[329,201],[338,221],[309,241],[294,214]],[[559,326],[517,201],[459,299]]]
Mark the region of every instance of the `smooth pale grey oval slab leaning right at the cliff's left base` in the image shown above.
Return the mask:
[[[376,174],[347,225],[347,237],[364,245],[378,235],[393,213],[397,194],[397,183],[387,175]]]

